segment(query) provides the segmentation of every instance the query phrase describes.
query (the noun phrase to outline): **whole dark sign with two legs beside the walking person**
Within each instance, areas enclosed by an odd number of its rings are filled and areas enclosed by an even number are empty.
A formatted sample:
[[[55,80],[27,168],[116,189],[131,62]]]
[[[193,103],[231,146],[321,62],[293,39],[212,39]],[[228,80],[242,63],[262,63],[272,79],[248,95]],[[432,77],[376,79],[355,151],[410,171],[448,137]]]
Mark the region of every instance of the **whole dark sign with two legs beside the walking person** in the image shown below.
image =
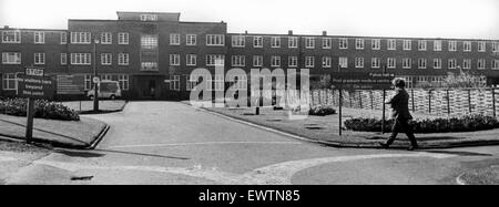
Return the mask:
[[[385,116],[385,96],[386,90],[391,89],[391,81],[395,79],[395,74],[391,73],[366,73],[366,72],[336,72],[332,73],[332,85],[339,91],[339,108],[338,108],[338,120],[339,120],[339,135],[343,134],[343,91],[344,90],[383,90],[383,116]],[[373,99],[373,97],[371,97]],[[385,117],[384,117],[385,120]],[[383,122],[385,125],[385,122]],[[383,126],[383,132],[385,127]]]

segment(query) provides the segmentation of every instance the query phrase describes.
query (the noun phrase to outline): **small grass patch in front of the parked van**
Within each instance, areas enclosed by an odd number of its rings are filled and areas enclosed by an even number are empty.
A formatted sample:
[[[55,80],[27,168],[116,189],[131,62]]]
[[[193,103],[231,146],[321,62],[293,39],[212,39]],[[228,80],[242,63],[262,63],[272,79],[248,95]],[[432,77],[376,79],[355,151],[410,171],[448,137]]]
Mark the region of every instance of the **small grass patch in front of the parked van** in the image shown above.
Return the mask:
[[[93,111],[93,101],[62,102],[62,104],[77,112],[85,113]],[[125,104],[126,102],[122,100],[103,100],[99,101],[99,110],[102,112],[118,112],[121,111]]]

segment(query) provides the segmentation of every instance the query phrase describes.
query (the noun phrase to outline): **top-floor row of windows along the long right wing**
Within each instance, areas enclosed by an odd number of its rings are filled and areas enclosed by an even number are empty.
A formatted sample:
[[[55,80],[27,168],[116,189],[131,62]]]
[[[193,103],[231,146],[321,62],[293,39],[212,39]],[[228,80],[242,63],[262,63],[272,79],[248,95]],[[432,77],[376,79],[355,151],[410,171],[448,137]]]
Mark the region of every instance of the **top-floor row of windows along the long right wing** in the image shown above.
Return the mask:
[[[282,46],[282,38],[281,37],[271,37],[271,48],[281,48]],[[289,37],[287,38],[288,48],[298,48],[299,37]],[[306,49],[315,49],[316,48],[316,38],[304,38],[305,48]],[[355,39],[355,49],[364,50],[366,48],[365,39]],[[373,39],[370,41],[371,50],[380,50],[381,49],[381,40]],[[449,41],[448,42],[448,51],[457,51],[458,41]],[[462,42],[462,51],[471,52],[472,50],[471,41]],[[479,52],[487,51],[487,42],[478,41],[477,50]],[[246,46],[246,37],[245,35],[233,35],[232,37],[232,46],[233,48],[245,48]],[[263,48],[263,37],[253,37],[253,48]],[[332,49],[333,48],[333,39],[332,38],[322,38],[322,48],[323,49]],[[348,49],[348,39],[340,38],[338,39],[338,48],[339,49]],[[387,50],[397,50],[397,40],[389,39],[387,40]],[[403,40],[403,50],[409,51],[413,50],[413,40]],[[417,50],[418,51],[427,51],[428,50],[428,41],[427,40],[418,40],[417,41]],[[442,41],[435,40],[434,41],[434,51],[442,51]],[[492,51],[499,52],[499,42],[492,43]]]

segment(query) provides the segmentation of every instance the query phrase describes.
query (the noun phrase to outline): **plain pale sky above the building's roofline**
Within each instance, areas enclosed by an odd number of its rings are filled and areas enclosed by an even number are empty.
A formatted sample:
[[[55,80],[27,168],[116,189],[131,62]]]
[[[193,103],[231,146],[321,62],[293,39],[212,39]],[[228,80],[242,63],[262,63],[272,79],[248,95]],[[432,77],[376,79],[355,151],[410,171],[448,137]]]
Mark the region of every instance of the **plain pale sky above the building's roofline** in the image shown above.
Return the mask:
[[[499,39],[499,0],[0,0],[0,25],[67,29],[116,11],[223,20],[228,32]]]

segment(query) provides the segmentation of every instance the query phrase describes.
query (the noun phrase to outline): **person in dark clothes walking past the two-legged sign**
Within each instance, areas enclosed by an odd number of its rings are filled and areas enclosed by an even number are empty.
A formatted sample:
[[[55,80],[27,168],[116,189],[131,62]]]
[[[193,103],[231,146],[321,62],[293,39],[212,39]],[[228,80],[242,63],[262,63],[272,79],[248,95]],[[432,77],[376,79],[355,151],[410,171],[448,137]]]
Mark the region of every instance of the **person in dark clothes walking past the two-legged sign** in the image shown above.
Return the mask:
[[[388,148],[397,138],[398,133],[405,132],[410,141],[410,147],[408,151],[414,151],[418,147],[416,137],[414,136],[413,127],[409,125],[409,121],[413,116],[409,112],[409,94],[406,91],[406,81],[403,79],[395,79],[393,82],[395,86],[395,95],[386,102],[391,105],[391,117],[394,118],[394,126],[391,127],[391,136],[386,143],[379,143],[381,147]]]

